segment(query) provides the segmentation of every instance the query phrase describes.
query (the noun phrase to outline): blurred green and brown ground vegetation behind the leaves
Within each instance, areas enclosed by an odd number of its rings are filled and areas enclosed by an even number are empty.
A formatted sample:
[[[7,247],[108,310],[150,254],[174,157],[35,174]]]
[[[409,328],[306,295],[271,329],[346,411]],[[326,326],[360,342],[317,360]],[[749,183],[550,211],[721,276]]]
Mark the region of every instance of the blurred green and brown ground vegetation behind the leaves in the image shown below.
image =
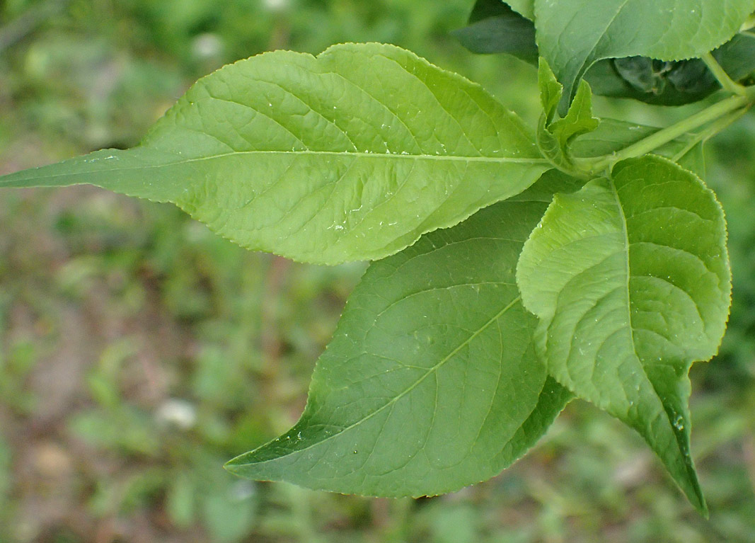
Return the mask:
[[[410,48],[534,122],[535,70],[448,35],[472,5],[5,0],[0,172],[134,145],[223,63],[347,41]],[[597,106],[656,125],[686,111]],[[639,437],[584,403],[510,470],[453,495],[369,499],[236,479],[224,461],[297,419],[365,265],[243,251],[170,205],[94,187],[2,191],[0,543],[755,541],[753,156],[753,113],[707,147],[735,274],[722,352],[692,370],[710,520]]]

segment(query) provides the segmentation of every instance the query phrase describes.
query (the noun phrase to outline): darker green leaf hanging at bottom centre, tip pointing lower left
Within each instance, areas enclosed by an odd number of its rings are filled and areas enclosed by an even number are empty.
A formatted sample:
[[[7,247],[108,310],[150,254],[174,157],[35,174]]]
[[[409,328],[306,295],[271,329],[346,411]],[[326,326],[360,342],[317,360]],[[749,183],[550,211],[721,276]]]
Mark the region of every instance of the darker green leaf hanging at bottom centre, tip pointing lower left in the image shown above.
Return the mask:
[[[371,264],[320,357],[300,421],[233,473],[377,496],[450,492],[498,474],[571,395],[547,378],[514,267],[558,187],[551,172]]]

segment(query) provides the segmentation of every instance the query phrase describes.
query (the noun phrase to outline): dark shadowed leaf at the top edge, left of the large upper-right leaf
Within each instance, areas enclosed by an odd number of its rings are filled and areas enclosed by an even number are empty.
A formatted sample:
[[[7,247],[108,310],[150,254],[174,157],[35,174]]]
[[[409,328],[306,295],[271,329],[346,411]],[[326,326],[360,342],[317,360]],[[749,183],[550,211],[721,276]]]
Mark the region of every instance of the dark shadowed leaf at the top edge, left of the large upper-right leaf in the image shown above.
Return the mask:
[[[470,26],[451,34],[473,53],[507,53],[525,62],[538,62],[535,25],[501,0],[478,0]]]

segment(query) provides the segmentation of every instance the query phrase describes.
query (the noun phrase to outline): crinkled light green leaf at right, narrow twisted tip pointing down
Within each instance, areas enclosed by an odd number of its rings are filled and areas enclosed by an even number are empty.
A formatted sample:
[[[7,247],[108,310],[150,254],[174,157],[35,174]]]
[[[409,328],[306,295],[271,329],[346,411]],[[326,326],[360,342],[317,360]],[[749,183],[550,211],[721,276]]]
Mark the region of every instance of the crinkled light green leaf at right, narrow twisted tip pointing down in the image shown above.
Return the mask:
[[[555,197],[516,278],[550,375],[637,430],[704,511],[687,373],[716,353],[729,313],[713,193],[666,159],[620,162],[612,180]]]

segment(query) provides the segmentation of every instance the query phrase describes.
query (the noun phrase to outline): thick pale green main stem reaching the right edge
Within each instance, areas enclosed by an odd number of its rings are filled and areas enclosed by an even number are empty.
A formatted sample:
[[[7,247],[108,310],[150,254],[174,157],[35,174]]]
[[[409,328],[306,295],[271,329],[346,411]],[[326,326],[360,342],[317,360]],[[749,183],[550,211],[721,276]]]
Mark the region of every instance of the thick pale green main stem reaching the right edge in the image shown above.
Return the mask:
[[[582,171],[588,171],[591,174],[610,170],[616,162],[652,153],[658,149],[658,147],[676,140],[677,137],[695,131],[695,129],[707,125],[710,122],[727,117],[732,113],[739,113],[740,111],[744,113],[744,110],[747,110],[747,108],[752,105],[753,101],[755,101],[753,92],[755,92],[755,88],[748,87],[745,96],[732,96],[726,98],[726,100],[714,103],[712,106],[698,111],[695,115],[689,116],[686,119],[677,122],[675,125],[663,128],[643,140],[639,140],[628,147],[624,147],[621,151],[597,159],[574,159],[574,163]]]

